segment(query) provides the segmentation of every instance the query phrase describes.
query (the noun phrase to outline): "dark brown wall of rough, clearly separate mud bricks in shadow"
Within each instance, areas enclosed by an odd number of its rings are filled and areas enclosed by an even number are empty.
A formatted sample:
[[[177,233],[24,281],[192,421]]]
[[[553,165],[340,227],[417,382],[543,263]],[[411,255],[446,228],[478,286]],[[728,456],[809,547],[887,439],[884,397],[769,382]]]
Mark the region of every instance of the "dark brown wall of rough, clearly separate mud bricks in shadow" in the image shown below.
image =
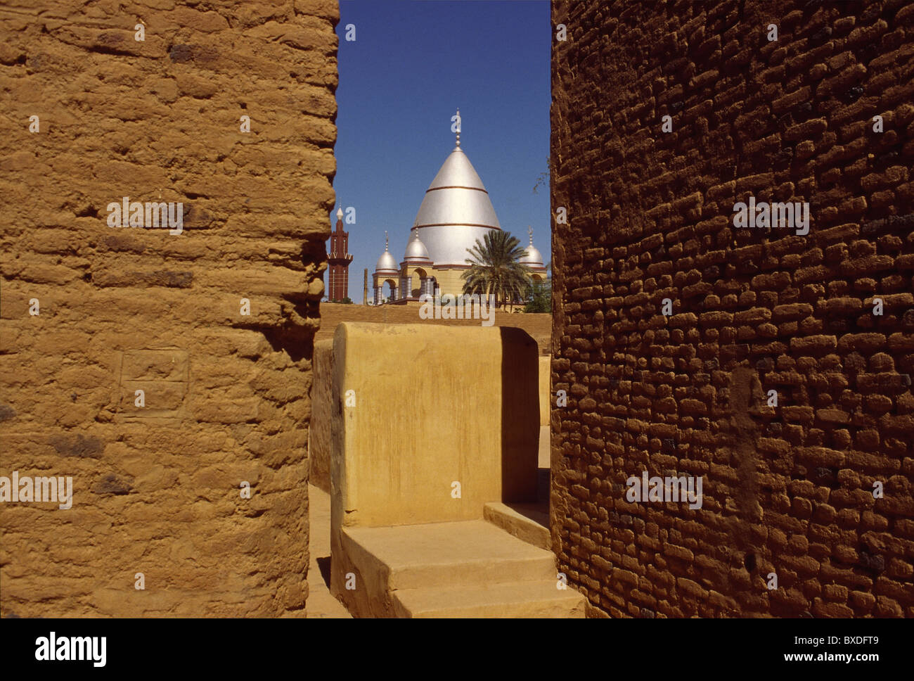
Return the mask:
[[[559,569],[596,615],[914,616],[914,5],[552,20]],[[809,234],[734,228],[749,196]],[[702,507],[629,503],[644,470]]]

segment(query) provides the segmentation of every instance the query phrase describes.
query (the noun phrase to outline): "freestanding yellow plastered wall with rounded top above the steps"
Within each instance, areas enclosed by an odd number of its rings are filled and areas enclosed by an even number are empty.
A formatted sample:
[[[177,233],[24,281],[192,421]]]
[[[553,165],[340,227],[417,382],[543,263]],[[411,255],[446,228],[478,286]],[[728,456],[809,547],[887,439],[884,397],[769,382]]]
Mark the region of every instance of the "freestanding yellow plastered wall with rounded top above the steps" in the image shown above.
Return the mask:
[[[340,324],[333,531],[481,518],[487,502],[533,500],[537,367],[522,329]]]

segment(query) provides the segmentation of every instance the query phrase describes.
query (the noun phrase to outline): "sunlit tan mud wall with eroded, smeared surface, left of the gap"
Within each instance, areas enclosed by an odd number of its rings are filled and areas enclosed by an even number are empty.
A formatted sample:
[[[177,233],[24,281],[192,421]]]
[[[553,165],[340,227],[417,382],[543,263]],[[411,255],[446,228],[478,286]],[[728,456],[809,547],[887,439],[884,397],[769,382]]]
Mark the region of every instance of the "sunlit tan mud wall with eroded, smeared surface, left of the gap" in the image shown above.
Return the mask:
[[[0,475],[74,488],[0,504],[4,616],[304,613],[338,20],[0,7]],[[122,197],[183,202],[183,232],[109,227]]]

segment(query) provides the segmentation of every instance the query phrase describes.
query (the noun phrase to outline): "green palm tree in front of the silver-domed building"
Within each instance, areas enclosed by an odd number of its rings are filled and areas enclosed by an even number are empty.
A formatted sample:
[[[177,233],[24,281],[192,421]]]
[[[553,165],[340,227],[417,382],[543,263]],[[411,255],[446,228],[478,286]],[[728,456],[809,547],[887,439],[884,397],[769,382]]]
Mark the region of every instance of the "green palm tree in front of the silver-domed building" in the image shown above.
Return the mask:
[[[510,232],[493,229],[476,239],[466,262],[470,269],[461,275],[463,293],[494,294],[496,305],[524,300],[530,290],[530,268],[518,260],[526,253]]]

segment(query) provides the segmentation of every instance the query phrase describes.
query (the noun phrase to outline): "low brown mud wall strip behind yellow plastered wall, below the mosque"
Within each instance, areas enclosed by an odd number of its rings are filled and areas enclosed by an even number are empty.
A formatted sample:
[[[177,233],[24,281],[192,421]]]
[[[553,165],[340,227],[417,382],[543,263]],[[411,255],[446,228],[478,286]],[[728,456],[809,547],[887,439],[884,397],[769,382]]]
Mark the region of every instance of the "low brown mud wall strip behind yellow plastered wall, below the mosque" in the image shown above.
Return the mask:
[[[419,305],[343,305],[321,303],[321,328],[315,341],[334,337],[336,325],[340,322],[375,322],[380,324],[443,324],[479,325],[478,319],[420,319]],[[551,314],[523,314],[495,311],[495,326],[517,326],[537,341],[539,354],[549,352],[549,338],[552,335]]]

